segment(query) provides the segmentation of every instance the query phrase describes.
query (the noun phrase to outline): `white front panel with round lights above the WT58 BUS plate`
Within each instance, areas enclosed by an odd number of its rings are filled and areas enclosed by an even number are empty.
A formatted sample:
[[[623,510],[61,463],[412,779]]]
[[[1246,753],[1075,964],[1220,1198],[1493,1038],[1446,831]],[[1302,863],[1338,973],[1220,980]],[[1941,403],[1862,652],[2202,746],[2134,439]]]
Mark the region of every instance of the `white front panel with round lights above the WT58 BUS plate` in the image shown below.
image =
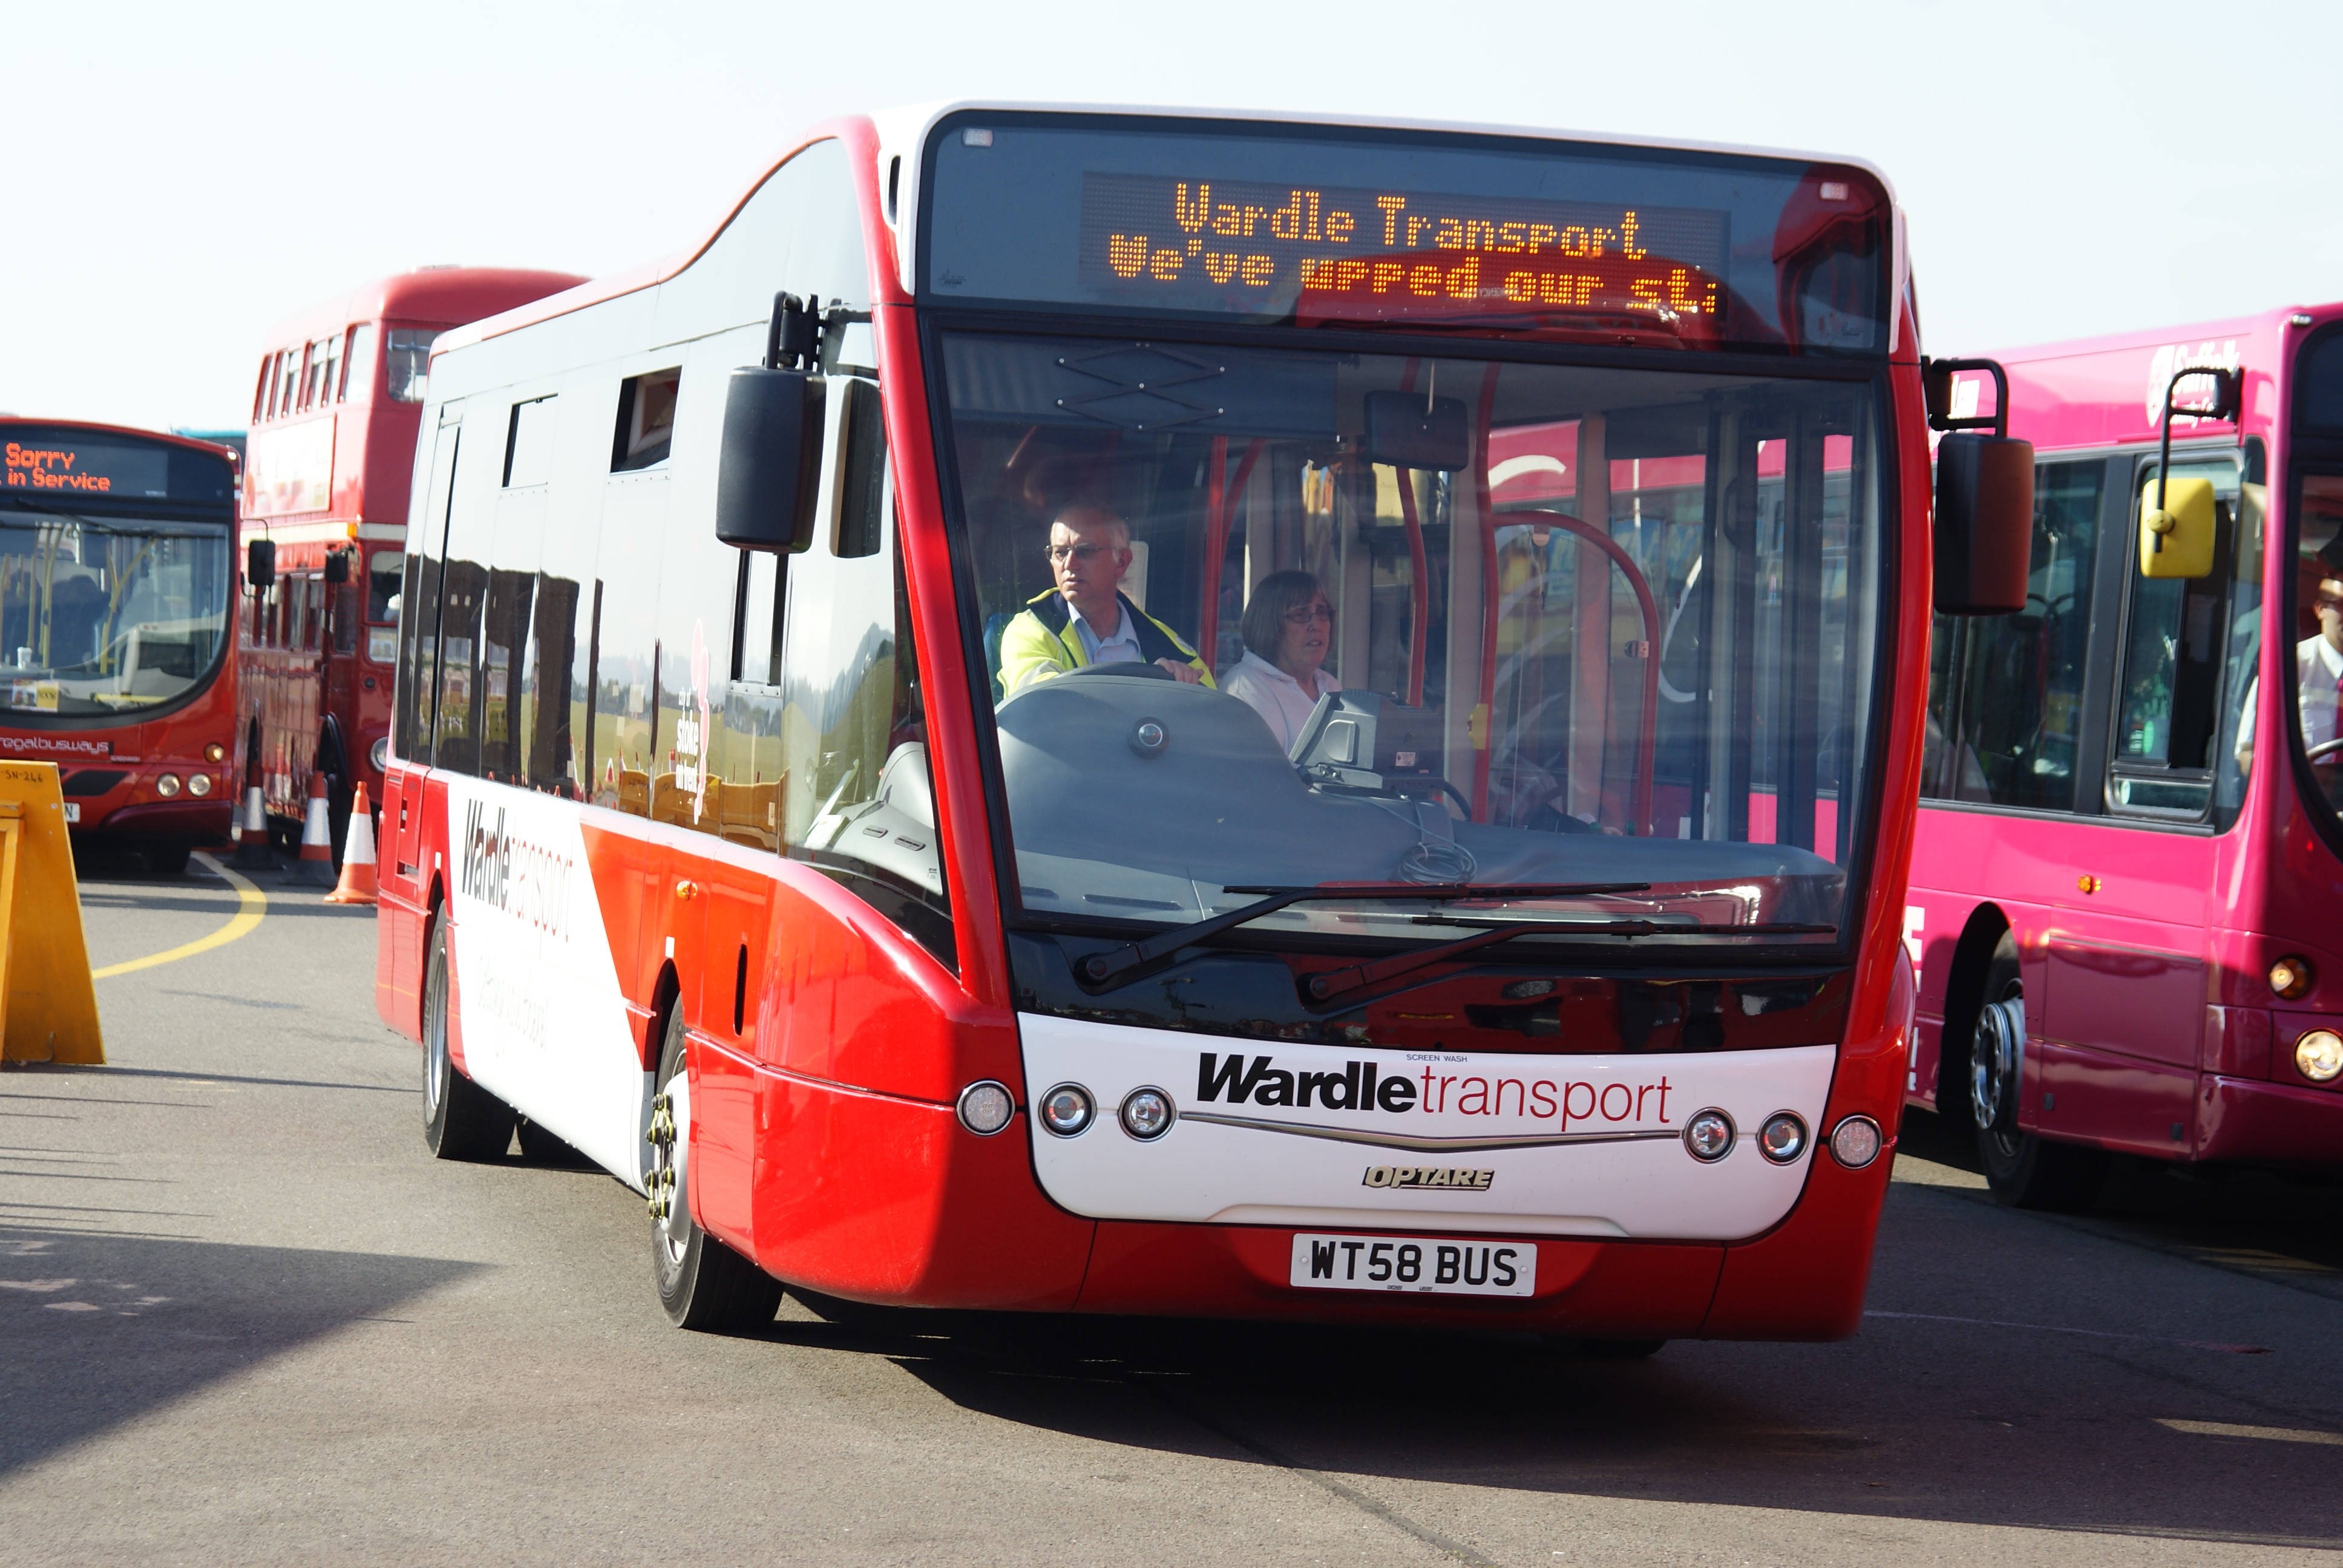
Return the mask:
[[[1832,1045],[1785,1050],[1715,1050],[1671,1055],[1497,1055],[1399,1052],[1366,1045],[1284,1045],[1232,1041],[1172,1029],[1129,1029],[1022,1013],[1026,1090],[1038,1099],[1057,1083],[1080,1083],[1099,1116],[1080,1137],[1061,1139],[1033,1120],[1033,1167],[1043,1191],[1089,1219],[1218,1221],[1307,1228],[1410,1228],[1514,1235],[1607,1235],[1727,1242],[1781,1221],[1806,1181],[1806,1160],[1821,1144],[1821,1116],[1837,1062]],[[1300,1106],[1230,1106],[1197,1102],[1202,1052],[1275,1057],[1277,1069],[1336,1071],[1371,1059],[1378,1076],[1448,1076],[1443,1109],[1326,1111]],[[1504,1092],[1504,1113],[1462,1113],[1464,1080],[1518,1080]],[[1624,1106],[1633,1090],[1640,1116],[1605,1120],[1572,1116],[1570,1134],[1642,1132],[1638,1141],[1563,1146],[1467,1148],[1476,1139],[1556,1137],[1560,1116],[1530,1113],[1535,1083],[1589,1085],[1600,1104],[1605,1088]],[[1666,1099],[1657,1085],[1666,1083]],[[1141,1144],[1122,1132],[1115,1106],[1139,1088],[1172,1095],[1181,1120]],[[1553,1095],[1556,1090],[1549,1090]],[[1567,1090],[1565,1090],[1567,1092]],[[1589,1095],[1570,1095],[1584,1104]],[[1516,1111],[1514,1106],[1521,1106]],[[1685,1118],[1724,1109],[1741,1132],[1715,1165],[1694,1160],[1682,1139]],[[1771,1165],[1757,1153],[1757,1127],[1776,1111],[1795,1111],[1809,1127],[1809,1153]],[[1193,1113],[1244,1116],[1284,1127],[1338,1127],[1366,1134],[1455,1139],[1448,1151],[1333,1141],[1258,1127],[1195,1120]],[[1371,1188],[1373,1165],[1434,1165],[1497,1172],[1488,1191]]]

